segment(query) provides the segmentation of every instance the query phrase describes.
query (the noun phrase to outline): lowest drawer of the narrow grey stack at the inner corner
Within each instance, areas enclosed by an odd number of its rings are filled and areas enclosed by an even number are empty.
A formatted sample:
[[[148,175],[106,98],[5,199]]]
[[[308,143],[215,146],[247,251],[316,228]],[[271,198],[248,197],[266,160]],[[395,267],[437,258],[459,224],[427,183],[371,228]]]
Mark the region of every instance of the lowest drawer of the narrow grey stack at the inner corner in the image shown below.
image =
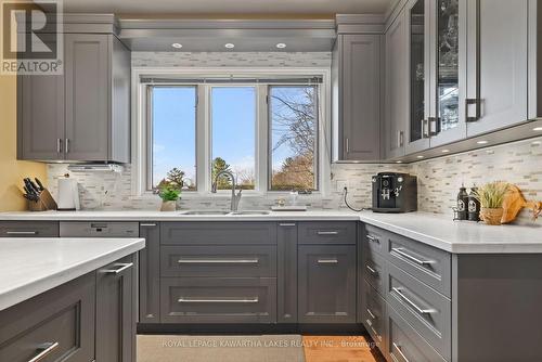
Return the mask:
[[[386,341],[386,301],[366,281],[363,281],[362,298],[361,321],[377,347],[384,351]]]

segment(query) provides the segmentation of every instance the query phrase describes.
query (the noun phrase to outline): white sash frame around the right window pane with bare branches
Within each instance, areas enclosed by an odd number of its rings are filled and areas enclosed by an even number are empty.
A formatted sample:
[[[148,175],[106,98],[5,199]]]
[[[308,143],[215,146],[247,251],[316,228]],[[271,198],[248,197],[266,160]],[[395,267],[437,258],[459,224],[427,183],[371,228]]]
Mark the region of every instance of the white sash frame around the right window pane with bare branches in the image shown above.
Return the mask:
[[[267,191],[271,193],[276,193],[276,192],[285,192],[282,190],[272,190],[272,179],[273,179],[273,130],[272,130],[272,115],[271,115],[271,89],[272,88],[300,88],[300,87],[312,87],[314,89],[314,114],[317,116],[315,119],[315,130],[314,130],[314,156],[313,156],[313,161],[312,161],[312,167],[314,170],[314,189],[311,190],[312,192],[319,192],[320,191],[320,95],[321,95],[321,85],[293,85],[293,83],[285,83],[285,85],[267,85],[268,89],[268,95],[267,95],[267,139],[268,139],[268,170],[267,170]]]

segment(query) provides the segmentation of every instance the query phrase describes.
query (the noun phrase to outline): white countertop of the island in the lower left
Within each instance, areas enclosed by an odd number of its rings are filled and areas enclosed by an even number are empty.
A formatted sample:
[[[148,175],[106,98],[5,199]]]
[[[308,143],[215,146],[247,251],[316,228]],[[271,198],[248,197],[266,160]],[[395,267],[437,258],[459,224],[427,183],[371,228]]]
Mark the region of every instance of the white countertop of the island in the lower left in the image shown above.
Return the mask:
[[[144,238],[0,238],[0,310],[144,247]]]

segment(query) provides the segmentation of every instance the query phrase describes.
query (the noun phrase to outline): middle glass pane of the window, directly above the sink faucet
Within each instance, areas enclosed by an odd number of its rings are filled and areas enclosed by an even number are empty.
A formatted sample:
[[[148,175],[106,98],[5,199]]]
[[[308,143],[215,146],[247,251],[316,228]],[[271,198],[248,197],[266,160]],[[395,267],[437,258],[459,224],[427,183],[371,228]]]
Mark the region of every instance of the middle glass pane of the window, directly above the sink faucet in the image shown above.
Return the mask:
[[[230,171],[237,188],[256,186],[256,88],[211,88],[211,182],[220,171]],[[231,180],[217,180],[218,190],[231,190]]]

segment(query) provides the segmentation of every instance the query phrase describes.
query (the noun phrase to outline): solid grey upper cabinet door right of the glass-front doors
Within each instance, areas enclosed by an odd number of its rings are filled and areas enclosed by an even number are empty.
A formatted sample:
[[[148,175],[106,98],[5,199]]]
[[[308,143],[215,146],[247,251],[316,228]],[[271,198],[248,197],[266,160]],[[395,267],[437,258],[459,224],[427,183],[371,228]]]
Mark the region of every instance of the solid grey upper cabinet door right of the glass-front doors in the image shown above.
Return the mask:
[[[528,0],[479,0],[468,8],[468,137],[527,120]],[[478,7],[476,7],[478,4]],[[478,29],[478,31],[476,31]]]

